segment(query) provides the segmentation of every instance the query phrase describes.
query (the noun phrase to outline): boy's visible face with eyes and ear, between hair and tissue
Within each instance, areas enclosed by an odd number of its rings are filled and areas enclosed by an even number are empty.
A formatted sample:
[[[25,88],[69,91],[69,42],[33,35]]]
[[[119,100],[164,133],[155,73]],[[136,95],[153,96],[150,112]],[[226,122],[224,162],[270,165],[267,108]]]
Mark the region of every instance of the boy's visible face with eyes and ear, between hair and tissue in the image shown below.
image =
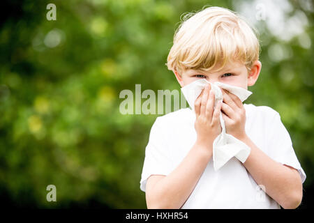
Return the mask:
[[[255,84],[258,75],[260,74],[261,63],[260,61],[255,61],[248,72],[246,66],[239,62],[230,62],[225,65],[225,67],[218,72],[202,72],[197,70],[186,70],[182,72],[181,77],[177,76],[177,79],[181,87],[190,84],[197,79],[206,78],[207,81],[222,82],[225,84],[230,84],[232,86],[239,86],[243,89],[248,89],[248,86]]]

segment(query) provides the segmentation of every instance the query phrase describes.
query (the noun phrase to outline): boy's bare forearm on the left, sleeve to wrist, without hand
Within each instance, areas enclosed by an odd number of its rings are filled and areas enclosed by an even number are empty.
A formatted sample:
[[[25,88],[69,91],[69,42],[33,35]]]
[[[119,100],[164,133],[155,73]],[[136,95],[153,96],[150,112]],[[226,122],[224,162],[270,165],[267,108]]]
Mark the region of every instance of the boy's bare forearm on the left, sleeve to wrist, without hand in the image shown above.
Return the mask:
[[[147,180],[147,208],[181,208],[193,192],[211,158],[210,149],[195,145],[168,176],[152,175]]]

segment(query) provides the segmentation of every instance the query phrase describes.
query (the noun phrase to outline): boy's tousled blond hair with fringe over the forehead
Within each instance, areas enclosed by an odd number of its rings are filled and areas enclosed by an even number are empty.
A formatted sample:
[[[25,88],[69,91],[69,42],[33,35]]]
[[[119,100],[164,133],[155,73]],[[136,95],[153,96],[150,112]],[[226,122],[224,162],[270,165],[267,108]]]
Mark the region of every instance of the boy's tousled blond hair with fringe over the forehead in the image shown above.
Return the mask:
[[[257,33],[243,17],[226,8],[209,7],[184,16],[166,66],[180,74],[188,69],[212,72],[228,61],[240,61],[250,70],[259,54]]]

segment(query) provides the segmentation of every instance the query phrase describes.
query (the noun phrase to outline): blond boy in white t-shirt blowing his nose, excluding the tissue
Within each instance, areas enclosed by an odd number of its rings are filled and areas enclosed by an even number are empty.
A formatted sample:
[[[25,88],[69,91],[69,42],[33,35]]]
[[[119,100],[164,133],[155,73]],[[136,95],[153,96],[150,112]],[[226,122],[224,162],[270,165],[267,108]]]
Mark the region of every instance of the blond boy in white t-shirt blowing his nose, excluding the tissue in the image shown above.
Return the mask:
[[[181,87],[204,78],[247,89],[260,74],[259,52],[255,33],[239,15],[211,7],[179,26],[167,67]],[[210,88],[195,100],[195,111],[171,112],[152,126],[140,181],[147,208],[297,208],[306,175],[279,114],[243,105],[225,90],[214,107]],[[251,152],[244,163],[232,157],[215,171],[220,112],[226,133]]]

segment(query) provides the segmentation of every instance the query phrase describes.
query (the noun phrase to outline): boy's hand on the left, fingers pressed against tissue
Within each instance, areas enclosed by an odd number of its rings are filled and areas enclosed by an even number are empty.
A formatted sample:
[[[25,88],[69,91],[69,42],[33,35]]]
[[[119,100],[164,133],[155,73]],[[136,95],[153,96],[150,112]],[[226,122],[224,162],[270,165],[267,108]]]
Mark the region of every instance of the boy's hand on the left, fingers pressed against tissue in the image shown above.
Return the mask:
[[[210,151],[213,149],[213,142],[221,132],[220,109],[221,102],[218,102],[215,109],[215,95],[211,86],[206,84],[202,93],[195,100],[195,130],[197,133],[196,143]]]

